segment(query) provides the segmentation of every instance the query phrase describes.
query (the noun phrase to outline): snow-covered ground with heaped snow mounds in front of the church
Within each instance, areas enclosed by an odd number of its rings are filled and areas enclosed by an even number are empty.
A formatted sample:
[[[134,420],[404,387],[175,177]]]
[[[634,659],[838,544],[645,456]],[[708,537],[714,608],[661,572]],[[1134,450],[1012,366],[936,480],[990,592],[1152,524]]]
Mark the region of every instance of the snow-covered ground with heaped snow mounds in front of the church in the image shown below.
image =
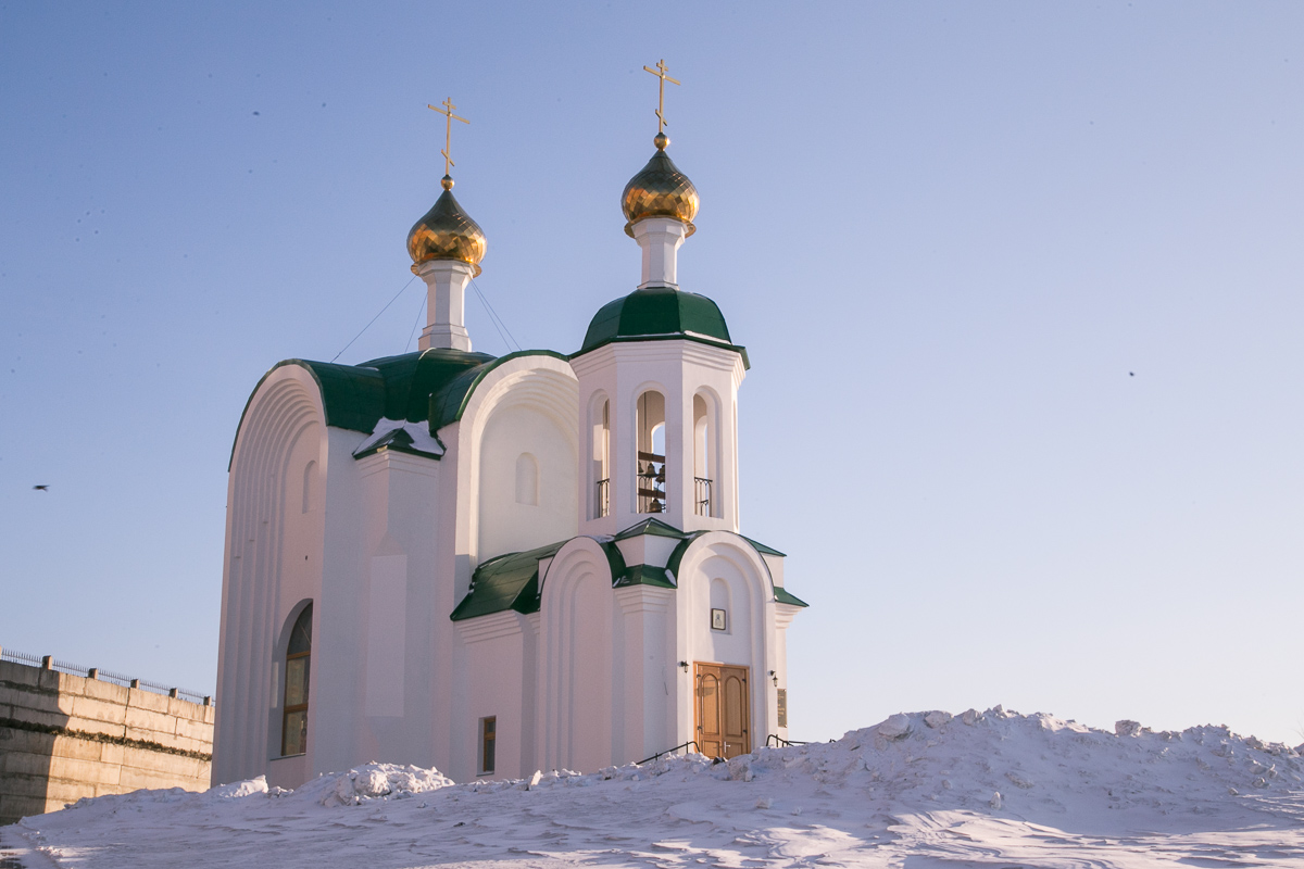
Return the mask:
[[[0,827],[0,866],[1304,866],[1304,758],[1222,727],[893,715],[728,763],[451,784],[369,765],[293,792],[82,800]]]

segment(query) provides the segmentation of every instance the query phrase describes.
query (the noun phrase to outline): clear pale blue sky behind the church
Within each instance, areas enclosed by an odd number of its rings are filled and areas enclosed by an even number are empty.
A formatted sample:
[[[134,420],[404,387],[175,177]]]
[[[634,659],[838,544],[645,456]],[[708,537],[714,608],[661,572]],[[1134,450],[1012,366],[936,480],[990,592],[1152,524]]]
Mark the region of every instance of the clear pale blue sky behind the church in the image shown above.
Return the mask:
[[[812,603],[793,735],[1001,702],[1304,741],[1301,33],[1297,3],[12,3],[0,644],[210,691],[240,410],[411,278],[425,104],[472,121],[477,283],[574,350],[638,281],[665,57],[681,283],[752,360],[743,532]]]

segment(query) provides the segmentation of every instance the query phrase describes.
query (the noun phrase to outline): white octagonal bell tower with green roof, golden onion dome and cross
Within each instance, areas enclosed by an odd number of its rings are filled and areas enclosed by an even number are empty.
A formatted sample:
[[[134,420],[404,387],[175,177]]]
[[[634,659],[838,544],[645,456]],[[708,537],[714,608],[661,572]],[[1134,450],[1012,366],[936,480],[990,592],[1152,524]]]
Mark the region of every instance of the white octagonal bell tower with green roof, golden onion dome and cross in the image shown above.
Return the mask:
[[[720,309],[679,289],[678,250],[698,190],[665,152],[665,61],[656,151],[621,195],[643,254],[636,289],[605,305],[572,358],[582,413],[580,530],[615,534],[647,519],[679,530],[738,530],[737,397],[746,350]]]

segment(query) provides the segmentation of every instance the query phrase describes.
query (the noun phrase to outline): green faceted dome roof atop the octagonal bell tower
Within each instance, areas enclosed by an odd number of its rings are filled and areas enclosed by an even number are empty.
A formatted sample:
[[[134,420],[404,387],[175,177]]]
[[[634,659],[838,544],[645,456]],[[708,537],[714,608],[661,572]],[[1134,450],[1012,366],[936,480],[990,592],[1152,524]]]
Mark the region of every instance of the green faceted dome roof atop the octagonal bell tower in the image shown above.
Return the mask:
[[[588,324],[584,344],[575,356],[583,356],[615,341],[648,341],[689,339],[726,347],[742,356],[751,367],[747,349],[729,337],[720,307],[696,293],[670,287],[648,287],[602,305]]]

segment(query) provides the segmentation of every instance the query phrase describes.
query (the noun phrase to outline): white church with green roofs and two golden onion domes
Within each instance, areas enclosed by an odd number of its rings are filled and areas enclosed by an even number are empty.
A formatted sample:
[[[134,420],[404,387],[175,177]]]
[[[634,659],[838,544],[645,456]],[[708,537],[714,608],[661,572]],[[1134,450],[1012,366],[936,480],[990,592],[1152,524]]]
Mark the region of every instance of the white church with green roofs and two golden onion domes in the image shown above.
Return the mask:
[[[622,199],[642,279],[574,353],[472,352],[485,237],[446,175],[408,236],[420,350],[287,360],[254,387],[230,465],[214,783],[368,761],[593,771],[788,736],[806,605],[782,552],[739,533],[747,353],[679,289],[698,193],[668,143]]]

